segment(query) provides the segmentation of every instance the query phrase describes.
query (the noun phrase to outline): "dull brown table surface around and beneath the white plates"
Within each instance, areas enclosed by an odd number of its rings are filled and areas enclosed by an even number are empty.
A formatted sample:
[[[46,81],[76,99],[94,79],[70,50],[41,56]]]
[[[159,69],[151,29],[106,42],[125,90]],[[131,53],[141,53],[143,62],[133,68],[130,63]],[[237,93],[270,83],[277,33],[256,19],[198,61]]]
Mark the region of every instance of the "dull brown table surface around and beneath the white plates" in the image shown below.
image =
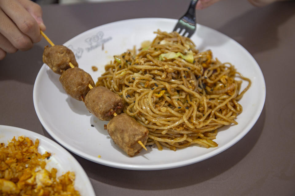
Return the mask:
[[[45,33],[54,43],[65,43],[81,32],[113,21],[177,19],[189,2],[44,5]],[[246,0],[224,0],[197,11],[196,17],[198,23],[241,43],[258,62],[265,77],[266,100],[257,123],[226,151],[181,168],[130,171],[74,155],[96,195],[295,195],[295,2],[256,8]],[[31,50],[8,54],[0,61],[0,124],[51,138],[33,106],[33,85],[43,64],[45,45],[48,43],[43,39]]]

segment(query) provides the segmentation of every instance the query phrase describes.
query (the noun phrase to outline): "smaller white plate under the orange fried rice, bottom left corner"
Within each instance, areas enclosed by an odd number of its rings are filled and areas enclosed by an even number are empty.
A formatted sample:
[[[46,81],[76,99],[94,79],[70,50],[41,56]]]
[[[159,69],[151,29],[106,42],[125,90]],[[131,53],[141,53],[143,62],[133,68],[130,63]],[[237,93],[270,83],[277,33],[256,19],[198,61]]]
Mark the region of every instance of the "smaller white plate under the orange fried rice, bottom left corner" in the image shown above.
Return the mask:
[[[28,137],[30,140],[39,140],[38,152],[44,154],[46,151],[51,153],[51,156],[46,160],[46,169],[50,171],[51,168],[57,169],[57,177],[65,174],[68,171],[75,172],[75,189],[78,190],[81,196],[95,196],[93,187],[90,183],[88,176],[78,161],[61,145],[46,138],[43,135],[35,132],[21,129],[14,126],[0,125],[0,143],[8,144],[9,141],[15,136]]]

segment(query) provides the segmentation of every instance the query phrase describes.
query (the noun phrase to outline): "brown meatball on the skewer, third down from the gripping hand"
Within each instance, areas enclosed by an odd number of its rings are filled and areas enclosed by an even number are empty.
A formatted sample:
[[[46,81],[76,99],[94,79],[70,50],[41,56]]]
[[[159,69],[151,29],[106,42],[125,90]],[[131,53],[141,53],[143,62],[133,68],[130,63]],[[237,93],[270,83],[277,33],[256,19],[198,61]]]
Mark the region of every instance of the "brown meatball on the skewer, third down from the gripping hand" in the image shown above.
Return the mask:
[[[110,120],[123,109],[123,99],[111,90],[97,86],[85,96],[85,106],[100,120]]]

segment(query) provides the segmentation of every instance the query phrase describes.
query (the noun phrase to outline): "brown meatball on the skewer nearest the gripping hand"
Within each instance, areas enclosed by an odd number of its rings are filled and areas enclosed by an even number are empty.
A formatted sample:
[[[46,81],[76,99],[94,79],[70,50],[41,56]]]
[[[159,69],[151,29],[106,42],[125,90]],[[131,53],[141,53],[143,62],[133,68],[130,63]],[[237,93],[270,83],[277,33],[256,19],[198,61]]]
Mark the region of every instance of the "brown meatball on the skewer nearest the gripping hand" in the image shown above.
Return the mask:
[[[62,72],[71,68],[69,62],[78,67],[73,51],[62,45],[46,46],[42,60],[57,74],[62,74]]]

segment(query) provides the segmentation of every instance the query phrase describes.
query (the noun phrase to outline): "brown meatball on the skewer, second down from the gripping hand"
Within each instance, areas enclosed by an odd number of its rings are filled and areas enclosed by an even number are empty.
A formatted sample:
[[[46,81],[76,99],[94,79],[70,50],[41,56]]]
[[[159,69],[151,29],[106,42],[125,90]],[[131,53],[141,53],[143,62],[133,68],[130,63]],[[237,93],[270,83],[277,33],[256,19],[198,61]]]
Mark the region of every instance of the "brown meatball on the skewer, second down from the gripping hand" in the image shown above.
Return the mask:
[[[79,101],[83,100],[89,92],[90,88],[88,85],[95,85],[91,75],[79,67],[65,70],[61,74],[59,81],[65,92]]]

